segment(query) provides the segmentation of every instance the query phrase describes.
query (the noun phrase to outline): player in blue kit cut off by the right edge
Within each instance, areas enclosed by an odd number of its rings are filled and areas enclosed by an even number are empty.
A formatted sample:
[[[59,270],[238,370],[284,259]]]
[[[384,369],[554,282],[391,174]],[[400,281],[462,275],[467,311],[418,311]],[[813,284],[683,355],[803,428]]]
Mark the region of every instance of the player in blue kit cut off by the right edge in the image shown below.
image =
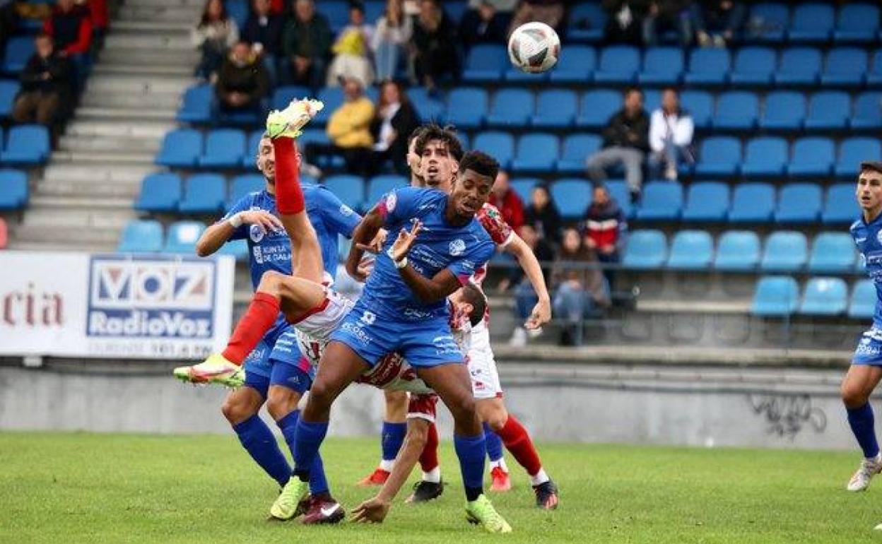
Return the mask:
[[[842,380],[842,402],[848,425],[863,451],[857,472],[848,481],[848,491],[863,491],[871,478],[882,472],[882,456],[876,441],[870,394],[882,379],[882,162],[862,162],[857,177],[857,205],[861,218],[849,229],[867,273],[876,287],[876,313],[869,331],[857,344],[851,367]]]

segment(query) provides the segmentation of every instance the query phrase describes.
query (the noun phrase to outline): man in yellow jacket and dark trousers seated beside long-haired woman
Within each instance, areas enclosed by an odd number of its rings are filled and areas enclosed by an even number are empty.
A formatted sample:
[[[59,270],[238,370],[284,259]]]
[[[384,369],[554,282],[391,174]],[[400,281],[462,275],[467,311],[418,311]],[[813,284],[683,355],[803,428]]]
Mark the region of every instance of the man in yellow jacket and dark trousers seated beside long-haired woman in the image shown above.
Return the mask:
[[[364,96],[364,82],[349,76],[343,81],[346,101],[328,120],[326,129],[331,144],[310,143],[306,145],[306,160],[315,165],[320,155],[341,155],[346,161],[349,174],[370,175],[370,148],[374,138],[370,136],[370,121],[374,117],[374,105]],[[304,170],[312,168],[304,166]]]

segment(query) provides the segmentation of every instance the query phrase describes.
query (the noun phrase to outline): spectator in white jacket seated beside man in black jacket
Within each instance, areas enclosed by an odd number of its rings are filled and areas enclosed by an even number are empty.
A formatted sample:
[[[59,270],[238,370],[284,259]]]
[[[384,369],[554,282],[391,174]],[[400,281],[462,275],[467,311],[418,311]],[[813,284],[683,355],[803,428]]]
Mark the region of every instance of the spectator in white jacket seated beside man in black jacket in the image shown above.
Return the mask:
[[[677,166],[695,160],[691,149],[694,130],[692,116],[680,108],[680,94],[674,88],[666,88],[662,92],[662,107],[649,120],[649,171],[659,175],[663,169],[665,179],[676,181]]]

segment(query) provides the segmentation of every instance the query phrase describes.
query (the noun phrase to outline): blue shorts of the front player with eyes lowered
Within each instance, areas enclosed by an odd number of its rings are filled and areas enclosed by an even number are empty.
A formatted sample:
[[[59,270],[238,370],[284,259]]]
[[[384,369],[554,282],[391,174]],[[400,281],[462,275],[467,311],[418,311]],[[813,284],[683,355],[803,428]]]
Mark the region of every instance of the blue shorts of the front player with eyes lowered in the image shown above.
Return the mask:
[[[371,311],[356,302],[331,340],[352,348],[372,367],[385,354],[398,352],[415,368],[463,362],[447,317],[407,321]]]

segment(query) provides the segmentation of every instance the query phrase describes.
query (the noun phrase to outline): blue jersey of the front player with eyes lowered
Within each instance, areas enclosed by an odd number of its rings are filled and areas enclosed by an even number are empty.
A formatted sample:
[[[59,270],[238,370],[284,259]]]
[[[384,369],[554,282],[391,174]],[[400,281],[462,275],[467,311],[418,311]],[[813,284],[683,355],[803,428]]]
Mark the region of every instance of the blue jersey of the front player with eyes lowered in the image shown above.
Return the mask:
[[[422,221],[422,231],[407,261],[426,278],[449,268],[465,284],[486,263],[496,244],[478,220],[454,227],[445,220],[447,195],[440,190],[403,187],[393,190],[380,201],[385,227],[389,230],[385,250],[392,247],[401,228],[410,228],[412,220]],[[444,300],[421,302],[401,279],[392,259],[380,253],[370,273],[361,299],[371,309],[385,310],[392,317],[418,320],[447,315]]]

